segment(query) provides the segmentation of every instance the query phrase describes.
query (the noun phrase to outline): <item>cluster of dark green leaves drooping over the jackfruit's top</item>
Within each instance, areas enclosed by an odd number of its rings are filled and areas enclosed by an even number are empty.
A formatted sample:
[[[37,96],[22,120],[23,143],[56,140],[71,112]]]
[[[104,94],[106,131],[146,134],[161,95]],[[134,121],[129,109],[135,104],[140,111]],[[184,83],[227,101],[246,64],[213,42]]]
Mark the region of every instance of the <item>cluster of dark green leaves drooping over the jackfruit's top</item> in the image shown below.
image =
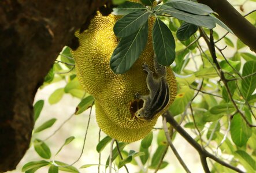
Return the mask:
[[[139,58],[147,44],[148,23],[153,18],[155,18],[152,32],[153,48],[158,63],[164,66],[171,65],[175,60],[175,39],[160,17],[175,17],[185,21],[177,31],[177,37],[180,40],[190,37],[196,32],[197,26],[212,29],[216,27],[216,23],[232,32],[212,15],[214,12],[209,6],[201,3],[171,0],[160,5],[154,5],[154,1],[142,2],[144,5],[126,1],[114,9],[114,14],[125,15],[114,25],[114,33],[120,38],[120,42],[110,59],[110,66],[114,73],[127,72]]]

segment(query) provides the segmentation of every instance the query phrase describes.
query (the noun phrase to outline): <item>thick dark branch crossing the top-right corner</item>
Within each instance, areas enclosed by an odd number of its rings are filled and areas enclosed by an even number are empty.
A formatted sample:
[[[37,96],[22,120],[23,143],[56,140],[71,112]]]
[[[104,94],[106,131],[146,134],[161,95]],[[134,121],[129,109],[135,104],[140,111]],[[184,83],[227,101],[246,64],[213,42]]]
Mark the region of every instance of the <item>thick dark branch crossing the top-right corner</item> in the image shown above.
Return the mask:
[[[218,18],[224,22],[235,35],[251,51],[256,52],[256,28],[246,18],[244,18],[227,0],[198,0],[210,6],[214,12],[218,13]]]

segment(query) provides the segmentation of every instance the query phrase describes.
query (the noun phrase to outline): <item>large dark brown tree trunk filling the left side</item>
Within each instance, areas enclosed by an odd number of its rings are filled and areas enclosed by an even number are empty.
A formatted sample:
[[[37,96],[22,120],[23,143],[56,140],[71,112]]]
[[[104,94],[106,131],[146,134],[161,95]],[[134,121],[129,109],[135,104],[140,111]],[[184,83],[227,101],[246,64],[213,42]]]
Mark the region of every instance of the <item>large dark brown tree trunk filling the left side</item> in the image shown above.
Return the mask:
[[[0,172],[28,149],[34,96],[58,53],[106,1],[0,1]]]

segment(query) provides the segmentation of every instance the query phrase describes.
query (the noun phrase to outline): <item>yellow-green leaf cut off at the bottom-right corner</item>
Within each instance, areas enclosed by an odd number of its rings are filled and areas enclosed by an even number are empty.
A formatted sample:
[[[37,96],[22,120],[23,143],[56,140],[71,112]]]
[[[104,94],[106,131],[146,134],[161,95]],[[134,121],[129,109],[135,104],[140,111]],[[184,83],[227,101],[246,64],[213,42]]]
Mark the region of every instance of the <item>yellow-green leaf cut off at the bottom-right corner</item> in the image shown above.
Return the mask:
[[[235,157],[239,159],[242,166],[246,168],[247,172],[255,172],[256,171],[256,164],[255,160],[248,155],[248,153],[238,150],[235,152]]]

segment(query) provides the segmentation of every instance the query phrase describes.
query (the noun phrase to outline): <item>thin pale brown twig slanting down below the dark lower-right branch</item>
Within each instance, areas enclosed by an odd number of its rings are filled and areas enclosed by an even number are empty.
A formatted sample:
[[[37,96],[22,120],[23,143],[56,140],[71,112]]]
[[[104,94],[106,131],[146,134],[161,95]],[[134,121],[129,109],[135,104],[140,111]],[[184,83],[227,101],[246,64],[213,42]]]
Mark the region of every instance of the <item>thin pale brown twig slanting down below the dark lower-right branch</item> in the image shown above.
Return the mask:
[[[181,166],[184,168],[184,170],[186,172],[190,172],[190,170],[188,170],[188,167],[185,165],[184,161],[181,159],[179,153],[177,152],[175,146],[172,144],[172,140],[170,140],[170,136],[169,136],[169,131],[168,131],[168,127],[167,127],[167,123],[166,123],[166,118],[163,117],[163,127],[164,127],[164,131],[165,131],[165,137],[166,140],[168,141],[168,144],[170,146],[170,148],[172,149],[173,153],[175,154],[176,158],[179,160]]]

